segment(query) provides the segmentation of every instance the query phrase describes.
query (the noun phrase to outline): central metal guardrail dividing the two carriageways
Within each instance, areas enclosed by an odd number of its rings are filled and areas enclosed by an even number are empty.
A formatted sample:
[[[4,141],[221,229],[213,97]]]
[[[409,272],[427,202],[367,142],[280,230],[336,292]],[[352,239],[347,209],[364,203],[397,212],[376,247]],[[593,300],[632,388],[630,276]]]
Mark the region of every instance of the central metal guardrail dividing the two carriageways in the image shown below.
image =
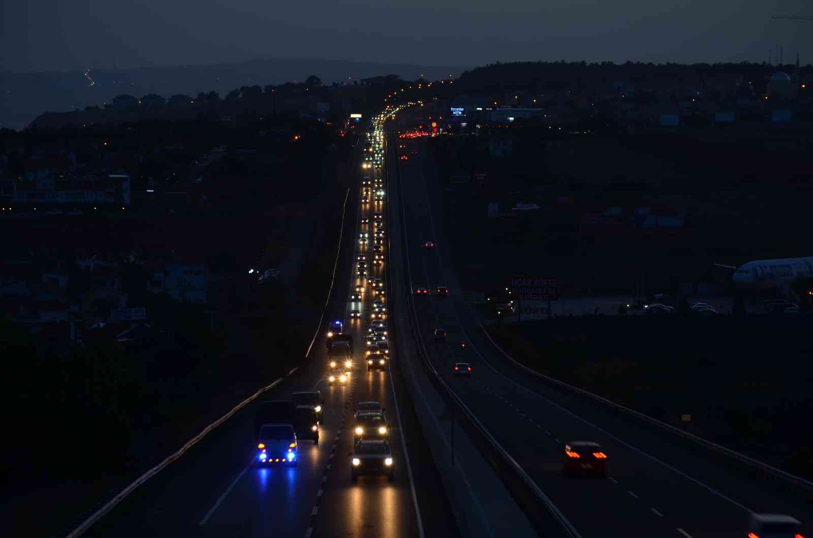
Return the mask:
[[[394,145],[390,144],[395,147]],[[397,173],[400,176],[400,166],[397,165]],[[524,511],[528,520],[536,528],[539,536],[553,536],[551,529],[555,528],[557,532],[555,536],[569,536],[570,538],[580,538],[580,534],[576,531],[567,517],[554,505],[554,502],[547,497],[545,492],[533,481],[520,464],[511,456],[506,449],[499,444],[498,440],[488,431],[488,429],[480,423],[476,415],[469,410],[463,400],[454,393],[443,377],[433,366],[428,358],[426,347],[424,345],[423,336],[420,334],[418,327],[417,313],[412,297],[412,280],[411,270],[408,267],[408,246],[406,244],[406,222],[404,217],[402,183],[400,177],[398,180],[399,197],[401,198],[401,226],[404,233],[402,234],[402,248],[404,249],[405,259],[407,262],[406,274],[408,282],[408,289],[406,293],[406,310],[409,313],[410,326],[412,336],[417,343],[416,349],[420,355],[420,363],[427,374],[430,383],[441,395],[446,405],[457,410],[455,418],[459,424],[467,432],[467,435],[472,444],[477,447],[480,453],[484,456],[489,465],[497,471],[498,476],[502,479],[503,484],[520,508]],[[389,206],[388,206],[389,210]],[[539,506],[544,505],[547,510],[539,510]]]

